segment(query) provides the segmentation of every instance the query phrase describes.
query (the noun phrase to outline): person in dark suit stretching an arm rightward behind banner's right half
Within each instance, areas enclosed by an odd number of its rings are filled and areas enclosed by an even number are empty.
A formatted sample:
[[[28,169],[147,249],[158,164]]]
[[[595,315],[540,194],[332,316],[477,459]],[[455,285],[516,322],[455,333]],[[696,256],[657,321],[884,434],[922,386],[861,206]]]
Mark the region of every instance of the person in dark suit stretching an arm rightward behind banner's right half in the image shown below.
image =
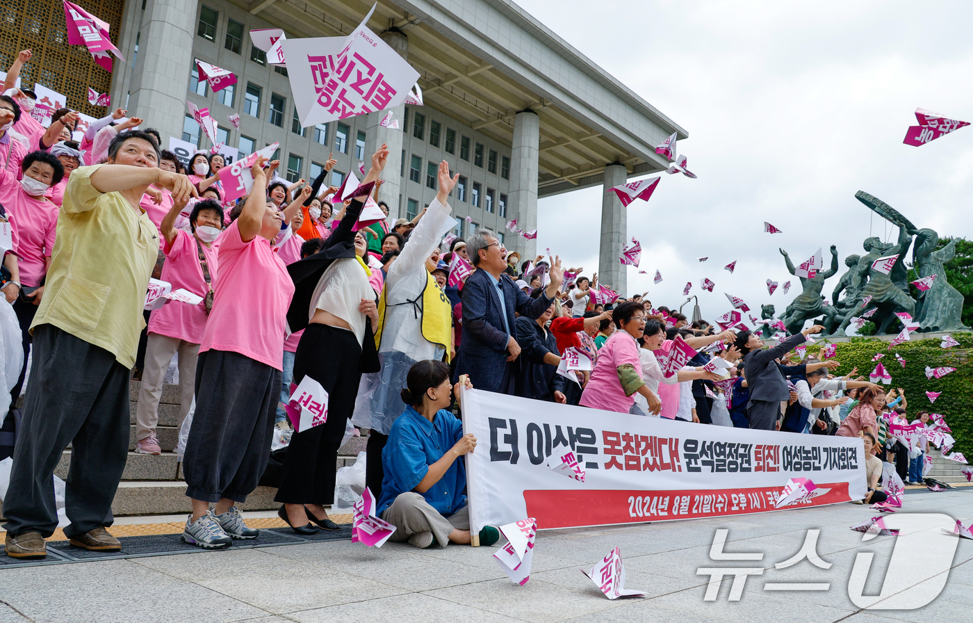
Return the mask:
[[[750,331],[741,331],[737,335],[736,346],[743,353],[746,384],[750,389],[750,401],[746,405],[750,428],[775,430],[780,418],[780,402],[790,398],[790,390],[777,368],[776,359],[792,348],[804,344],[811,333],[820,333],[823,329],[821,325],[815,324],[797,335],[781,340],[773,348],[764,348],[764,343],[757,334]]]

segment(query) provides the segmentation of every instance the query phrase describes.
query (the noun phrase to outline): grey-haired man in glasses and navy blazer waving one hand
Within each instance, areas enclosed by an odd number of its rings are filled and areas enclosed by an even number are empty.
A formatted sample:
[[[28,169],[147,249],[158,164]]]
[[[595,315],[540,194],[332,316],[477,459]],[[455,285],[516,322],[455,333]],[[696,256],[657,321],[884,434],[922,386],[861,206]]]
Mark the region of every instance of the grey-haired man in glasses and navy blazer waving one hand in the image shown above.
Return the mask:
[[[463,285],[463,339],[459,345],[456,378],[469,375],[473,386],[487,391],[514,393],[514,364],[521,354],[514,312],[537,318],[551,307],[564,279],[560,258],[551,262],[551,282],[531,299],[512,279],[500,240],[488,230],[467,239],[470,261],[477,268]]]

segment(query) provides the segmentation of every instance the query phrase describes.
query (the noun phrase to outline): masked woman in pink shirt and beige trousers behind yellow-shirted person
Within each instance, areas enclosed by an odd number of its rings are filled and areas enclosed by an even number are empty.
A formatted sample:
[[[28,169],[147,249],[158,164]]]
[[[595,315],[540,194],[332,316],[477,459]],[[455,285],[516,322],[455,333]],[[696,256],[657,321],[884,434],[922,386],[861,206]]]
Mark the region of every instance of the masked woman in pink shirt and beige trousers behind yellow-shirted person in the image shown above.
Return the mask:
[[[185,289],[203,297],[198,305],[169,301],[152,311],[149,317],[148,342],[145,348],[145,367],[142,371],[142,387],[135,409],[135,452],[140,455],[159,455],[162,448],[156,437],[159,423],[159,399],[162,382],[172,355],[179,353],[179,390],[182,425],[193,403],[196,388],[196,362],[202,332],[206,327],[206,298],[216,284],[219,258],[213,248],[213,240],[223,227],[223,210],[213,200],[203,200],[193,206],[187,234],[173,227],[176,217],[185,203],[172,203],[162,219],[162,281],[170,283],[172,290]]]

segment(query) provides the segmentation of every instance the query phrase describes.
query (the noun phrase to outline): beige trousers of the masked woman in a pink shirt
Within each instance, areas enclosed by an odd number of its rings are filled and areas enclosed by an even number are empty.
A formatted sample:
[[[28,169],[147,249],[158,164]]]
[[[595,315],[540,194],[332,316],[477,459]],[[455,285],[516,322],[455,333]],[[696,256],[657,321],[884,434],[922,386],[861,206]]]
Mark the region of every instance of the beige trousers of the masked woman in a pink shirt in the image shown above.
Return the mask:
[[[165,371],[169,367],[172,355],[179,353],[179,421],[183,420],[193,405],[193,393],[196,388],[196,359],[199,345],[191,344],[178,338],[169,338],[158,333],[150,333],[145,348],[145,370],[142,371],[142,388],[138,392],[138,406],[135,408],[135,440],[142,441],[146,437],[156,435],[159,424],[159,399],[162,397],[162,383],[165,381]]]

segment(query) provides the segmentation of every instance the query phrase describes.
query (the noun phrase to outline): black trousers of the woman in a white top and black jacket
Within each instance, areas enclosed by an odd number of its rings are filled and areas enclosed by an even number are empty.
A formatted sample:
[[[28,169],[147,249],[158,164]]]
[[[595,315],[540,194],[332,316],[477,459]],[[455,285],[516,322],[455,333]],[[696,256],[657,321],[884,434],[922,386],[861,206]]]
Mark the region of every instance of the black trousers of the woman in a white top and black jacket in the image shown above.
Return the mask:
[[[309,376],[324,387],[328,420],[291,437],[276,501],[322,506],[335,501],[338,449],[355,408],[361,353],[361,344],[351,331],[317,322],[307,325],[294,353],[293,383],[300,385]]]

